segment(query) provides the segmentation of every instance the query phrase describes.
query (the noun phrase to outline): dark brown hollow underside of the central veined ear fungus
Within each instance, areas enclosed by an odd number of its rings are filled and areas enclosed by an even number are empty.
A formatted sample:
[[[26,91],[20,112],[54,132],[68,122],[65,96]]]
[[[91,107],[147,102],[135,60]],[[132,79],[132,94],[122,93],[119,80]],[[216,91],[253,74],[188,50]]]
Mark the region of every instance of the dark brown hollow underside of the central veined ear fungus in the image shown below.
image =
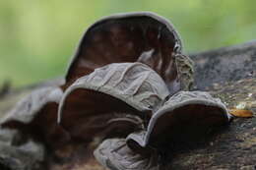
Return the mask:
[[[138,111],[111,95],[77,88],[62,107],[61,126],[77,140],[126,137],[140,130]]]

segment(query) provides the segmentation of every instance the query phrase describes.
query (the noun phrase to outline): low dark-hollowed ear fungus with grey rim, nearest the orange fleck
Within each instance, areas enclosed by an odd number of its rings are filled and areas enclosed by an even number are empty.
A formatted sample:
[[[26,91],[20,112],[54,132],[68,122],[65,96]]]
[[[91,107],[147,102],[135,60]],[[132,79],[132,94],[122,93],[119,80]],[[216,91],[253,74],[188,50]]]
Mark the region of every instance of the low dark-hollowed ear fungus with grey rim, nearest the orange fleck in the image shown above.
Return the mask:
[[[202,91],[180,91],[153,115],[147,133],[131,134],[127,143],[160,148],[169,142],[184,142],[227,124],[230,117],[219,98]]]

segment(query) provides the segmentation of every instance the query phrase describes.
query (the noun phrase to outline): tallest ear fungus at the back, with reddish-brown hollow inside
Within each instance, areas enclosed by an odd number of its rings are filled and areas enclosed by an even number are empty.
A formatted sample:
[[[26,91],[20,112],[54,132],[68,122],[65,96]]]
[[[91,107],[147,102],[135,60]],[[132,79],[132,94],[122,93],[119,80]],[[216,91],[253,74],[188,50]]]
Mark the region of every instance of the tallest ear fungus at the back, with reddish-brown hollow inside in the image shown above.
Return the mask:
[[[141,62],[155,70],[174,93],[192,83],[191,60],[186,56],[175,59],[181,50],[175,28],[154,13],[109,16],[97,21],[84,34],[66,75],[67,86],[106,64]],[[186,66],[189,82],[182,83],[184,70],[177,69],[180,63]]]

